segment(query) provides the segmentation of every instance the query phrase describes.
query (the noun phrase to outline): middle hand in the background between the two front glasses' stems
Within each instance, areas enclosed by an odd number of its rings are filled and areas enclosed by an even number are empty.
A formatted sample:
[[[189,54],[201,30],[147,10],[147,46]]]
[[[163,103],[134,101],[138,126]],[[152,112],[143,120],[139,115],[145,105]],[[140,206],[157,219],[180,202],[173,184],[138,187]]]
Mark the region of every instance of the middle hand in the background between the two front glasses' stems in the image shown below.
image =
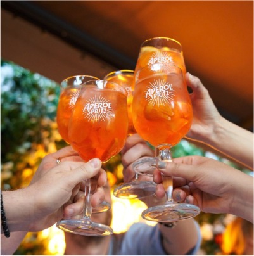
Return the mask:
[[[144,157],[155,156],[154,150],[146,144],[146,141],[144,141],[139,134],[133,134],[127,138],[121,154],[122,165],[124,166],[124,182],[130,182],[135,176],[135,172],[132,169],[132,163]],[[151,178],[147,176],[142,176],[140,178],[151,180]]]

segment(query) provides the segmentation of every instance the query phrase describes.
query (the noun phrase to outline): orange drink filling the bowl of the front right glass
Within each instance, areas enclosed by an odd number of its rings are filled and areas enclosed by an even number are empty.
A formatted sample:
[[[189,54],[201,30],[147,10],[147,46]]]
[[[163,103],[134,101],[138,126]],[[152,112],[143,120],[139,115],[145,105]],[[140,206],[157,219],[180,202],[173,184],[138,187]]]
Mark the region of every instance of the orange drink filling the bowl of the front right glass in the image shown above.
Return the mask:
[[[137,72],[132,105],[141,137],[158,147],[179,143],[191,127],[191,99],[180,68],[156,64]]]

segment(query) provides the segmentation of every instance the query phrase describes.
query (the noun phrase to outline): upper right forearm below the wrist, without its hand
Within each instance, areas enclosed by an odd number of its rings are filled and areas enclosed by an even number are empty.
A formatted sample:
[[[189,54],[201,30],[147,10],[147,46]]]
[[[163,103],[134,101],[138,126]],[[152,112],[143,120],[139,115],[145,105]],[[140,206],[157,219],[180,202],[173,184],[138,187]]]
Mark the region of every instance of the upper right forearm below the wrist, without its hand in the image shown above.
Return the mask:
[[[253,133],[220,118],[205,140],[216,150],[253,169]]]

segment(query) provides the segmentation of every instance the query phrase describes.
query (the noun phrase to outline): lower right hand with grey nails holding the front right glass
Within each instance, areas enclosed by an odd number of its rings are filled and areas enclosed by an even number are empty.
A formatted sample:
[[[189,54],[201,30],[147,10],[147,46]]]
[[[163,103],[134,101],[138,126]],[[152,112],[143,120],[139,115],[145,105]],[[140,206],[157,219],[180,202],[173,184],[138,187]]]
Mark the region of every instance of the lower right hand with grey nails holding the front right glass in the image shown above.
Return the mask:
[[[225,163],[200,156],[159,162],[156,196],[165,195],[161,173],[174,179],[174,199],[198,205],[203,212],[230,213],[253,221],[253,177]],[[252,191],[252,192],[251,192]],[[252,210],[251,210],[252,209]],[[248,215],[248,217],[246,217]]]

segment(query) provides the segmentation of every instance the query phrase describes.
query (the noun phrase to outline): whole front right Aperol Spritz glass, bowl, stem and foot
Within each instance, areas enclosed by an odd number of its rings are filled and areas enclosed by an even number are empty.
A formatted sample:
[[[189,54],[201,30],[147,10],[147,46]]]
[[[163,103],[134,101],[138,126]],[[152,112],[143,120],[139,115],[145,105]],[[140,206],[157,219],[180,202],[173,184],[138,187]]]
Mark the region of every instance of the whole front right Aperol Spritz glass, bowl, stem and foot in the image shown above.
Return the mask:
[[[138,160],[133,167],[139,174],[153,176],[158,160],[172,162],[170,148],[179,143],[191,127],[191,99],[181,68],[160,63],[137,71],[132,110],[136,131],[158,149],[155,158]],[[174,202],[173,179],[168,176],[162,178],[167,201],[144,210],[144,219],[172,222],[200,213],[200,208],[195,205]]]

